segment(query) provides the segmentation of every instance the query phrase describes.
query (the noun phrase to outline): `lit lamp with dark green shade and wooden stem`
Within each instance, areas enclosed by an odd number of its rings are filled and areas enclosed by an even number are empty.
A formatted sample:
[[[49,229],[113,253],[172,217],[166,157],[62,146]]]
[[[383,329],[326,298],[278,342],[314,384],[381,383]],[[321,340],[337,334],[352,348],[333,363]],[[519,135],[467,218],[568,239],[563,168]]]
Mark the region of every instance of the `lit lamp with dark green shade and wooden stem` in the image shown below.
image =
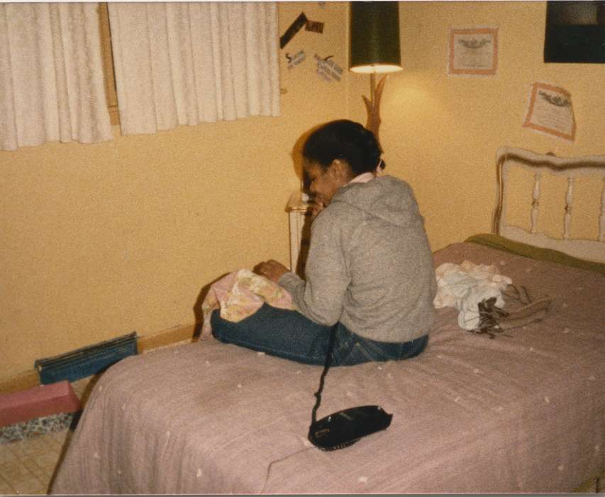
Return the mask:
[[[350,2],[350,59],[352,72],[370,75],[370,99],[363,97],[367,109],[366,128],[378,143],[380,99],[387,76],[376,84],[377,73],[400,71],[399,3],[396,1]],[[382,149],[382,147],[381,147]]]

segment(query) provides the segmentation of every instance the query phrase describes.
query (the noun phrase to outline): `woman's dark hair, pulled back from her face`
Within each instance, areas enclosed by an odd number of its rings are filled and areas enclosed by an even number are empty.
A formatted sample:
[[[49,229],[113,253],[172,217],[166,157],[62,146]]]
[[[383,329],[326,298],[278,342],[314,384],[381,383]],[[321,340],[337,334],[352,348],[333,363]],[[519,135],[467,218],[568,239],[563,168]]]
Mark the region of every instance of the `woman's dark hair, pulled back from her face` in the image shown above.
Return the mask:
[[[306,139],[302,155],[325,170],[334,159],[345,160],[354,175],[369,173],[380,162],[380,147],[374,133],[347,119],[331,121]]]

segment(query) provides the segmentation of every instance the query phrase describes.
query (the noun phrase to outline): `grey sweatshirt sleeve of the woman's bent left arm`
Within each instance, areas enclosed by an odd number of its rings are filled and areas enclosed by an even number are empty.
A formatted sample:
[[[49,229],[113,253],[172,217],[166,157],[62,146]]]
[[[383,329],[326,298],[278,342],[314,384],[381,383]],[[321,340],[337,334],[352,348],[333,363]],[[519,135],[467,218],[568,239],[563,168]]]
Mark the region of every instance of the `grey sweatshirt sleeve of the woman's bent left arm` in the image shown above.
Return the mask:
[[[340,320],[343,300],[350,283],[345,264],[340,226],[328,209],[311,226],[311,245],[306,262],[306,281],[294,273],[279,278],[303,315],[318,324]]]

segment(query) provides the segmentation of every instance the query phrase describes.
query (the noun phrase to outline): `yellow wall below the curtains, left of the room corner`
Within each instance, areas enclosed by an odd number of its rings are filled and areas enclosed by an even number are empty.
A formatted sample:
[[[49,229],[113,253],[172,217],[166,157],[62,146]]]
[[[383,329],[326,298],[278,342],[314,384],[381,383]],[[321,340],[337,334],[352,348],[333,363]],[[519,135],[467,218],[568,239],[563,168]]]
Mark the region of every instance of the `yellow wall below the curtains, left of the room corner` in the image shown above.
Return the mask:
[[[325,31],[303,29],[280,53],[279,117],[0,152],[0,381],[35,359],[192,324],[218,276],[289,264],[292,148],[347,114],[345,81],[323,82],[312,61],[344,67],[343,4],[282,4],[279,33],[301,11]],[[308,59],[288,70],[285,53],[301,48]]]

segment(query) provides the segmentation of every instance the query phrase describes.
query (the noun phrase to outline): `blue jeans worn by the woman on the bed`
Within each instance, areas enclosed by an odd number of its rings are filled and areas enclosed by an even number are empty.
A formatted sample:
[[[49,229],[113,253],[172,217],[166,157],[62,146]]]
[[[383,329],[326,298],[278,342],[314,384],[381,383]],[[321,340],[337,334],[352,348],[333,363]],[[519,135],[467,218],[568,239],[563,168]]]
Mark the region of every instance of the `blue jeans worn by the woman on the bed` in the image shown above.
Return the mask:
[[[210,322],[214,337],[226,344],[304,364],[326,362],[331,327],[316,324],[300,312],[264,304],[253,315],[236,323],[223,320],[220,312],[214,310]],[[428,334],[410,342],[377,342],[360,337],[338,323],[332,366],[409,359],[420,354],[427,343]]]

